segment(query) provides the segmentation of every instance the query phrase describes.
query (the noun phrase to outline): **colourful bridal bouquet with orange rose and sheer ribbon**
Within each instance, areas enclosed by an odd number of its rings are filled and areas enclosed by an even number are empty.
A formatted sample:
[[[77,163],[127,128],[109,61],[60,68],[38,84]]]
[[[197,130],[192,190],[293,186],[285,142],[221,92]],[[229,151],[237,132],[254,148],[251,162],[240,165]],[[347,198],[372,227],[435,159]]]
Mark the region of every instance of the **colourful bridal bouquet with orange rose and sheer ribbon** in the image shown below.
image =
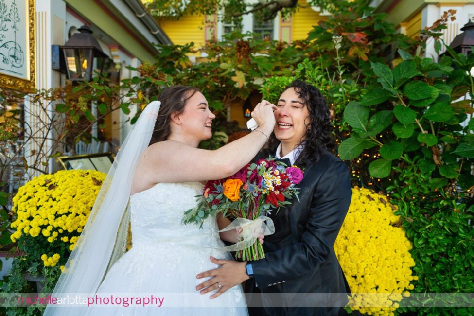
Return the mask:
[[[275,232],[273,221],[267,217],[281,206],[298,199],[296,185],[303,179],[303,172],[296,166],[288,167],[274,158],[260,159],[247,164],[233,176],[208,181],[202,195],[197,197],[197,206],[185,212],[183,223],[200,224],[208,216],[222,213],[235,220],[228,231],[242,228],[239,241],[225,247],[226,251],[237,251],[236,258],[259,260],[265,258],[263,246],[257,241],[259,233],[271,235]],[[299,199],[298,199],[299,201]]]

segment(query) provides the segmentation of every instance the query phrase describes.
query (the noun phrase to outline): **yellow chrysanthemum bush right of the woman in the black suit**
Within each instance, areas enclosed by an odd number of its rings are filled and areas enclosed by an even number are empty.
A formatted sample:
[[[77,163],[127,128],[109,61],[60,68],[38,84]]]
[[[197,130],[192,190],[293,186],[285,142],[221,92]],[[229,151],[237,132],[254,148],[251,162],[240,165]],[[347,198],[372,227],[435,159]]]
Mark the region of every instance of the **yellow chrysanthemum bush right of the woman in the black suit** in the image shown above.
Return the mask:
[[[397,210],[386,196],[352,189],[352,200],[334,244],[351,288],[348,307],[367,315],[395,315],[398,302],[413,289],[411,242]]]

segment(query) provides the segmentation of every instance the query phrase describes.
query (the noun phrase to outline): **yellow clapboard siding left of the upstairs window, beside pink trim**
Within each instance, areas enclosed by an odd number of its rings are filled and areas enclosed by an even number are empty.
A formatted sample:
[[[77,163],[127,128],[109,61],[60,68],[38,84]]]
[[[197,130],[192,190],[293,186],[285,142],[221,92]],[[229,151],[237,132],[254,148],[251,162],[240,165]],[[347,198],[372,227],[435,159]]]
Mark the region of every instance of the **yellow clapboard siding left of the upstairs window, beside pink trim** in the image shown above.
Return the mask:
[[[160,19],[159,25],[176,45],[194,42],[194,47],[204,46],[204,16],[187,15],[179,20]]]

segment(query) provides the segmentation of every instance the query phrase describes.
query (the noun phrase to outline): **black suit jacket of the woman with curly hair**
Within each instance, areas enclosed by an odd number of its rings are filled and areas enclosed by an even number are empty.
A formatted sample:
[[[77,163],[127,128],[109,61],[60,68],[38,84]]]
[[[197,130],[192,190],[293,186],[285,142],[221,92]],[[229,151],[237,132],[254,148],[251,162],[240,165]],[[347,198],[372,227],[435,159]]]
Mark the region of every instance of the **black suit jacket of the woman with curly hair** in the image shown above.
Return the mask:
[[[256,159],[268,155],[262,151]],[[288,236],[265,237],[265,258],[251,262],[255,276],[246,292],[254,293],[268,315],[337,315],[334,306],[344,306],[350,293],[333,248],[351,203],[348,167],[325,152],[316,164],[304,166],[298,187],[299,202],[293,199],[274,219],[275,235],[280,229]]]

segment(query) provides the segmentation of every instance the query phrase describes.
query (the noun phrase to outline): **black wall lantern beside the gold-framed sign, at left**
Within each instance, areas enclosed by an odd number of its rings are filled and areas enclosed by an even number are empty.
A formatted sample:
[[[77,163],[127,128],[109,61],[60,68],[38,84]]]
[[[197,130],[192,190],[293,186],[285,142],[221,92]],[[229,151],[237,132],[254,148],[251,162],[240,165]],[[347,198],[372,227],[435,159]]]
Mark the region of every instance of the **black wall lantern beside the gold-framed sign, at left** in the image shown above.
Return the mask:
[[[67,75],[72,81],[92,81],[94,71],[102,72],[108,56],[102,51],[87,25],[83,25],[78,31],[80,33],[73,34],[66,44],[61,46]]]

